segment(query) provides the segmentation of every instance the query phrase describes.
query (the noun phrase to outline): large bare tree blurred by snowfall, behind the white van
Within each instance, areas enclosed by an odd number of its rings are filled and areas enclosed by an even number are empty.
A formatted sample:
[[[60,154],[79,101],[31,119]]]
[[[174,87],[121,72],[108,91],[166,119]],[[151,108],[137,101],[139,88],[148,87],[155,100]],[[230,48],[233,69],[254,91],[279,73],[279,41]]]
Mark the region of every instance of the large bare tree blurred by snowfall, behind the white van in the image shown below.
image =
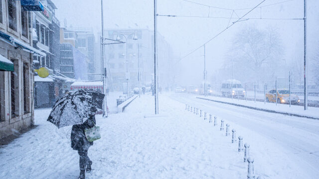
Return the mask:
[[[224,67],[246,82],[263,82],[280,71],[283,56],[282,41],[276,30],[249,26],[240,30],[228,50]]]

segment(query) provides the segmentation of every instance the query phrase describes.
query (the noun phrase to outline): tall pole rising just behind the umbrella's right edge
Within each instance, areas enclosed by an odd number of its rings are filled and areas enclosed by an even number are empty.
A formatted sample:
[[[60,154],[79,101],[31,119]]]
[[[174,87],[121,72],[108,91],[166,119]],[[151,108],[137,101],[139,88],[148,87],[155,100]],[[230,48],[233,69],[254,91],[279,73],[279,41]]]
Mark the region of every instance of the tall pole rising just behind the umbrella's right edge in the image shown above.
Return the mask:
[[[105,56],[105,47],[104,47],[104,17],[103,17],[103,0],[101,0],[101,15],[102,15],[102,37],[101,37],[101,60],[102,60],[102,80],[103,80],[103,93],[104,96],[104,105],[103,105],[103,117],[108,117],[108,109],[107,109],[107,98],[106,98],[106,67],[104,62],[104,56]]]

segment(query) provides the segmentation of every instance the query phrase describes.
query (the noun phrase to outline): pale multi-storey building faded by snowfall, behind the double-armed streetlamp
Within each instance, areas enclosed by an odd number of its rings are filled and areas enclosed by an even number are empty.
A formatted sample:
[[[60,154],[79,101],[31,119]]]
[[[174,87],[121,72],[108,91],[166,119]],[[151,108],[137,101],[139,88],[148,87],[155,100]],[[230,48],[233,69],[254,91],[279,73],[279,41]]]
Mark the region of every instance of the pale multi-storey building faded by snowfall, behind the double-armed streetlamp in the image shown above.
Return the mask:
[[[130,71],[129,88],[133,90],[139,87],[139,59],[141,87],[150,87],[154,83],[154,31],[145,28],[107,29],[106,34],[109,39],[119,39],[127,43],[106,45],[105,60],[108,67],[108,86],[112,90],[125,91],[126,54],[128,54]],[[133,39],[134,35],[137,36],[137,40]],[[165,70],[172,63],[172,49],[160,34],[158,34],[158,46],[159,67],[162,67],[159,70]],[[165,72],[160,75],[162,75],[162,78],[159,78],[163,82],[162,85],[168,85],[169,83],[166,83],[168,79],[166,78],[170,78],[171,75]]]

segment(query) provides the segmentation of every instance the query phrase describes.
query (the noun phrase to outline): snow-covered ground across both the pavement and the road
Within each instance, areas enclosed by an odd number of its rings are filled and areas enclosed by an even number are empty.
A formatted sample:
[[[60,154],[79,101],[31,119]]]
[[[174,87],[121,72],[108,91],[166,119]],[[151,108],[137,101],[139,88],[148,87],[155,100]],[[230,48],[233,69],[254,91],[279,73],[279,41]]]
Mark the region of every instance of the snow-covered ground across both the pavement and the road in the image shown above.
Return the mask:
[[[109,118],[97,116],[102,138],[89,149],[88,179],[245,179],[247,163],[238,143],[220,131],[220,119],[250,144],[255,174],[266,179],[316,179],[319,176],[319,120],[272,114],[196,99],[186,94],[142,95],[124,113],[110,93]],[[185,103],[219,118],[218,126],[184,110]],[[78,154],[69,129],[46,122],[50,109],[35,111],[38,125],[0,148],[0,178],[76,179]],[[146,116],[146,117],[145,117]],[[237,139],[238,142],[238,139]]]

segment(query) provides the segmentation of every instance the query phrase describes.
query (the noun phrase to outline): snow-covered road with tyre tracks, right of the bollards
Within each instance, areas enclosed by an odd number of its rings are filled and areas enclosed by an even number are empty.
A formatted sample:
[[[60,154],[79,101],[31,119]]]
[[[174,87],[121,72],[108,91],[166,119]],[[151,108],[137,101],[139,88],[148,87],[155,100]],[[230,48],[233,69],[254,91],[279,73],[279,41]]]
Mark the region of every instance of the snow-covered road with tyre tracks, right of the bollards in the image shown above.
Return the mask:
[[[292,158],[299,158],[301,166],[308,168],[309,174],[319,176],[319,120],[205,101],[183,93],[170,97],[269,138],[281,145]]]

